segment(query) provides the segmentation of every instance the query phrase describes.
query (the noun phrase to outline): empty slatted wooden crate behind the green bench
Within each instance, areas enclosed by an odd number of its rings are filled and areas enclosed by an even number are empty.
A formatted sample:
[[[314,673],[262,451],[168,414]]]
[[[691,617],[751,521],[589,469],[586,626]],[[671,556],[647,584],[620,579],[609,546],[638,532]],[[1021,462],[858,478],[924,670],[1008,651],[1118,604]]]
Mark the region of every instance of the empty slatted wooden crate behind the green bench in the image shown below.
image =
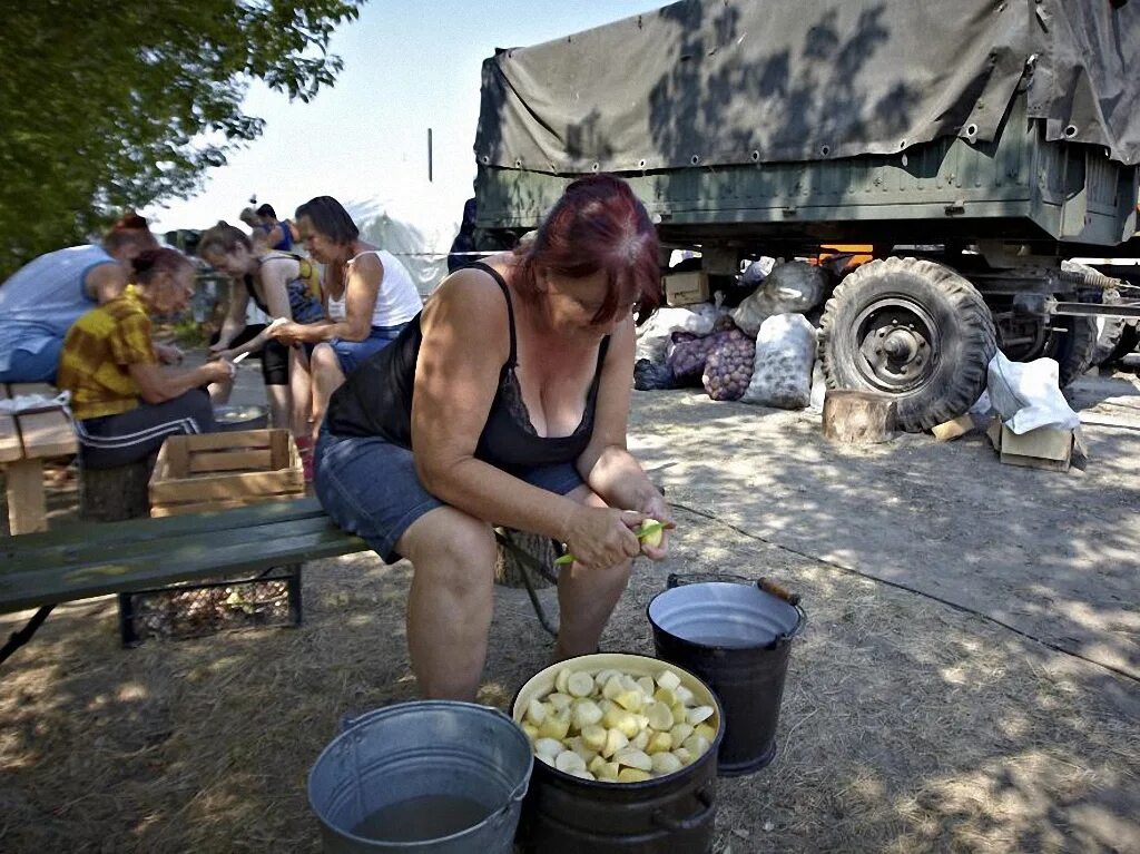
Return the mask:
[[[304,472],[287,430],[172,436],[150,475],[150,515],[241,507],[304,495]]]

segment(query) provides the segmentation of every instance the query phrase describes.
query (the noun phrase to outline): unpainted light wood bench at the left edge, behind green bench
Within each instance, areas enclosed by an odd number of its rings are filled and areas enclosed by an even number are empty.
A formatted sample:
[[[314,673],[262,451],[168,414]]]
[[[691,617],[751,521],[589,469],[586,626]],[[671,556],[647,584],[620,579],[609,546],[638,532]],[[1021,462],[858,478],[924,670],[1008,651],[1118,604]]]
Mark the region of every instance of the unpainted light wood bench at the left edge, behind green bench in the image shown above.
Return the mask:
[[[43,383],[0,384],[0,399],[21,395],[54,398],[57,393]],[[8,529],[11,534],[47,530],[43,461],[78,450],[75,433],[60,409],[16,415],[0,413],[0,464],[7,469]]]

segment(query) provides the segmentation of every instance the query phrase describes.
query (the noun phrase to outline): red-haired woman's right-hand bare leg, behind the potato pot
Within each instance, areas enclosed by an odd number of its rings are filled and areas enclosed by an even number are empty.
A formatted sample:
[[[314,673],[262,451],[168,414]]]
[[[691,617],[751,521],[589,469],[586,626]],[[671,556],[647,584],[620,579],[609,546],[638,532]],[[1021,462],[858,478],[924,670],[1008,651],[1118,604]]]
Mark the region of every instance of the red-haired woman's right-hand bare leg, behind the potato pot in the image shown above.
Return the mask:
[[[606,506],[605,502],[585,486],[572,491],[569,497],[592,507]],[[555,661],[597,651],[597,641],[626,589],[632,566],[632,561],[625,561],[609,569],[584,569],[577,563],[562,568],[559,572],[559,640],[554,646]]]

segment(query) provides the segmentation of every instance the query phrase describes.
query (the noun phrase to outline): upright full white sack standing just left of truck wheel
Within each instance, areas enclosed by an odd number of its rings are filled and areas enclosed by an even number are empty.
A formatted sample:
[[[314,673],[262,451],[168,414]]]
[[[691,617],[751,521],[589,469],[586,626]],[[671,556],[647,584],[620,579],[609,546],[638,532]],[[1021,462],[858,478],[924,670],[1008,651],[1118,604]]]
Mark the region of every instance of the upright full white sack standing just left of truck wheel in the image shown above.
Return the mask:
[[[812,401],[815,327],[803,315],[769,317],[756,334],[752,379],[741,400],[781,409],[803,409]]]

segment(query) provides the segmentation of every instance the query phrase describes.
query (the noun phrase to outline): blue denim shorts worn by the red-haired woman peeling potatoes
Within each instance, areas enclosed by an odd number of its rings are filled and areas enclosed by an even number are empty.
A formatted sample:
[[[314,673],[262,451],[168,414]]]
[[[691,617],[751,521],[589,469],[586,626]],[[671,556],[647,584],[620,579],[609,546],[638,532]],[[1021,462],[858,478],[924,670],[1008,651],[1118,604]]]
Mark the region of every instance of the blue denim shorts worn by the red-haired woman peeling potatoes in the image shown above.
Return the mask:
[[[400,560],[396,544],[413,522],[446,506],[420,482],[412,452],[380,437],[339,437],[321,429],[314,465],[314,489],[325,512],[364,538],[385,563]],[[573,463],[531,469],[520,477],[557,495],[585,482]]]

